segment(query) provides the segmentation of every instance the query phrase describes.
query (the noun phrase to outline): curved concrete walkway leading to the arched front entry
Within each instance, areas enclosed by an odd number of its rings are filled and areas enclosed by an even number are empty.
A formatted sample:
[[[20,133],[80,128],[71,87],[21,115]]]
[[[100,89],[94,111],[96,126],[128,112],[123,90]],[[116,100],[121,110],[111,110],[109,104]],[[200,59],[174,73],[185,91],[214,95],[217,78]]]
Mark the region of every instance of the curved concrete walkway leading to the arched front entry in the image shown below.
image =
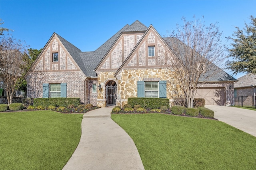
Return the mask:
[[[144,170],[132,138],[112,121],[111,111],[84,114],[80,142],[63,170]]]

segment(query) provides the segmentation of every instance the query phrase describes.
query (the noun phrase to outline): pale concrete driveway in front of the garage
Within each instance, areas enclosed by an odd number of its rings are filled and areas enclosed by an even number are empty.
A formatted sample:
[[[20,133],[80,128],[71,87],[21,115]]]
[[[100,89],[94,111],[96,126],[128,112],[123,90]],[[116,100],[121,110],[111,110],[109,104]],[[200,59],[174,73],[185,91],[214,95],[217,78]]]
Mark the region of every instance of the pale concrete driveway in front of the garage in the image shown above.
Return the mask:
[[[256,111],[228,106],[205,106],[214,118],[256,137]]]

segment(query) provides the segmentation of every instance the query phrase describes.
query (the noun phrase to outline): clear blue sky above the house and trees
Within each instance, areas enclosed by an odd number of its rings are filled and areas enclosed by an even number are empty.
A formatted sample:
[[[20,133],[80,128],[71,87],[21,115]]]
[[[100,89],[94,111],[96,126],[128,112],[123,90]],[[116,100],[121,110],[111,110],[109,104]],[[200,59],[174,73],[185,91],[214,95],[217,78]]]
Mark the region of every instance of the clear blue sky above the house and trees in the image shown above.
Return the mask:
[[[232,36],[234,26],[243,28],[251,15],[256,17],[256,1],[0,0],[2,27],[14,30],[13,37],[33,49],[44,47],[56,32],[82,51],[94,51],[136,20],[166,36],[182,24],[182,16],[192,20],[194,15],[204,16],[207,25],[218,22],[223,37]]]

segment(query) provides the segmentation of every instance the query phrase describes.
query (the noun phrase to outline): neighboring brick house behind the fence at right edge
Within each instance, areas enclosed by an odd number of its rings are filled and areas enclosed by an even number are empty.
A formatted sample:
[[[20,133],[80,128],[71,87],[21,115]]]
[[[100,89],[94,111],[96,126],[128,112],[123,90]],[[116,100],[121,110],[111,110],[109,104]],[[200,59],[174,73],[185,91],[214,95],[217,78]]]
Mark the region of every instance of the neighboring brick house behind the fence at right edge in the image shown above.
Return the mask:
[[[244,105],[255,105],[256,75],[246,74],[234,84],[234,96],[243,96]]]

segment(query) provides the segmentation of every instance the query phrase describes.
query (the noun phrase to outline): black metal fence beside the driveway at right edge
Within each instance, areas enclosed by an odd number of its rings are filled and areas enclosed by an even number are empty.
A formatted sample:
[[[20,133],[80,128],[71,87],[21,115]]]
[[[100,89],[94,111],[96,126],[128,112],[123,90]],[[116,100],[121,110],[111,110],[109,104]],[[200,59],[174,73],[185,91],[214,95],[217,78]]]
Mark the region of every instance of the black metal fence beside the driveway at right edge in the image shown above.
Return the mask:
[[[256,96],[235,96],[235,106],[238,107],[251,107],[256,109]]]

